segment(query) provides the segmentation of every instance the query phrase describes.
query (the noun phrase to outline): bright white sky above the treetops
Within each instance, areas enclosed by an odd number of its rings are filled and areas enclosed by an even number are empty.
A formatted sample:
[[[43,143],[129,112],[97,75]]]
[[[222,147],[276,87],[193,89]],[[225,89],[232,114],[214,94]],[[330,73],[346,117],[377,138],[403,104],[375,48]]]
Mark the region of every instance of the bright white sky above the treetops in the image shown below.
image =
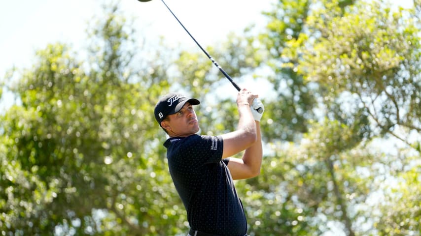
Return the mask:
[[[250,24],[264,26],[267,19],[261,12],[270,10],[275,1],[165,0],[204,48],[225,41],[230,31],[241,32]],[[105,2],[109,0],[1,0],[0,78],[13,66],[31,66],[35,51],[44,49],[48,43],[62,42],[73,49],[82,48],[89,20],[102,12]],[[409,7],[411,2],[400,0],[399,4]],[[136,27],[147,33],[144,36],[148,40],[158,40],[162,35],[170,42],[196,47],[196,52],[200,52],[161,0],[121,0],[120,4],[124,14],[137,19]],[[7,92],[3,96],[6,103],[12,99]],[[5,108],[3,101],[0,112]]]

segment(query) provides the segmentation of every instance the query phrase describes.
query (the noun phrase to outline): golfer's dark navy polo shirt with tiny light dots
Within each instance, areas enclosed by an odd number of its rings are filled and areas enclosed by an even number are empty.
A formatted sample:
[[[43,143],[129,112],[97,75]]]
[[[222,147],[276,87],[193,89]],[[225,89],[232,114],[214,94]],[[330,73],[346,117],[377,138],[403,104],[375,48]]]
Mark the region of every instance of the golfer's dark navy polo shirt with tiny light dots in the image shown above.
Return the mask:
[[[175,188],[193,230],[221,236],[243,236],[246,215],[222,160],[220,136],[170,138],[164,146]]]

